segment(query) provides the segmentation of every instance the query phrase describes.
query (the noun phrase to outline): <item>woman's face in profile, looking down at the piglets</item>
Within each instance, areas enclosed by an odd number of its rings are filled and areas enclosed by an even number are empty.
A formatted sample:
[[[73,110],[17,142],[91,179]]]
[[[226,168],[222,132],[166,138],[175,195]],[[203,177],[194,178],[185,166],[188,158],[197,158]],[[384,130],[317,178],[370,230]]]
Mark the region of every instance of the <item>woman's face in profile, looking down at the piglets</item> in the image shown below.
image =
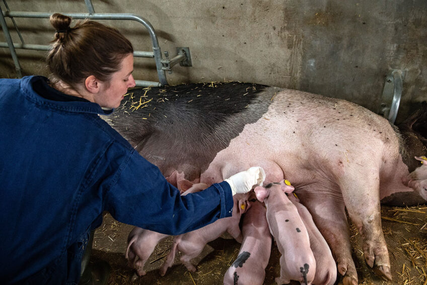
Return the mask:
[[[133,55],[129,53],[121,62],[120,70],[113,73],[110,81],[105,82],[100,92],[94,95],[95,103],[105,108],[117,108],[120,106],[127,88],[135,87],[132,71]]]

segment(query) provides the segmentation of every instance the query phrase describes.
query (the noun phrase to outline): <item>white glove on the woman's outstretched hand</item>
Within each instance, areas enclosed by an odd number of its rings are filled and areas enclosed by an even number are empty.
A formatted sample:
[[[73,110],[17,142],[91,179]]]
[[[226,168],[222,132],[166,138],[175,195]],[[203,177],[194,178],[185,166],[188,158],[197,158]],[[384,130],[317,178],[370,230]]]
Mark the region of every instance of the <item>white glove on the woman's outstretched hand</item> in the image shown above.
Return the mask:
[[[231,192],[235,195],[238,193],[247,193],[255,186],[262,186],[264,179],[264,169],[257,166],[251,167],[246,171],[239,172],[225,181],[230,184]]]

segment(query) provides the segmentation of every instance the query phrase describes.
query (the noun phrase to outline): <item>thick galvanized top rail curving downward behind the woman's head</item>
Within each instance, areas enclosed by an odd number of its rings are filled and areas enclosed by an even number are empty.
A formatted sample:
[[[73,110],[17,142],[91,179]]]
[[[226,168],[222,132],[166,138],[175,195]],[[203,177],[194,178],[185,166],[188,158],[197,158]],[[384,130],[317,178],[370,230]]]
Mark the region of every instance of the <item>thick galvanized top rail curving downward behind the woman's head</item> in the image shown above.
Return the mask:
[[[3,12],[5,17],[16,17],[16,18],[49,18],[51,13],[44,12]],[[151,37],[153,42],[154,59],[156,61],[157,75],[162,85],[167,85],[166,73],[162,69],[162,52],[157,40],[156,32],[149,21],[135,14],[129,13],[99,13],[99,14],[83,14],[83,13],[63,13],[63,15],[72,17],[74,19],[93,19],[93,20],[133,20],[143,24]]]

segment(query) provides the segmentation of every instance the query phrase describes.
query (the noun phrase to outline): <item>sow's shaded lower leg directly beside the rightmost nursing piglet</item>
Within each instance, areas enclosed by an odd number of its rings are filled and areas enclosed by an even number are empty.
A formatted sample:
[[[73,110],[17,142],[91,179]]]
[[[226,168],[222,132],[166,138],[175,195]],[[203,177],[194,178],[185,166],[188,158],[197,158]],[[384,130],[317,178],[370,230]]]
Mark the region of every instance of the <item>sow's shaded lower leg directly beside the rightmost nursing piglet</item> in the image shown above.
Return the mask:
[[[344,201],[337,186],[311,184],[296,191],[301,203],[310,211],[325,238],[342,275],[340,284],[357,285],[358,273],[351,257],[350,233]]]

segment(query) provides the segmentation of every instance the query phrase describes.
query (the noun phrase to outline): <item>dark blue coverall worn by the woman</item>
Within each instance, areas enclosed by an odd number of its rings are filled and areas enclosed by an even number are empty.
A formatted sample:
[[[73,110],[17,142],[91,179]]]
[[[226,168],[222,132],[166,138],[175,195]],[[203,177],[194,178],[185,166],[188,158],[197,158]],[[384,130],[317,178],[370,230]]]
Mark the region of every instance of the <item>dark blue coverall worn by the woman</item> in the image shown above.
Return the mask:
[[[0,283],[77,284],[103,211],[170,235],[231,216],[227,182],[180,196],[108,113],[41,76],[0,79]]]

